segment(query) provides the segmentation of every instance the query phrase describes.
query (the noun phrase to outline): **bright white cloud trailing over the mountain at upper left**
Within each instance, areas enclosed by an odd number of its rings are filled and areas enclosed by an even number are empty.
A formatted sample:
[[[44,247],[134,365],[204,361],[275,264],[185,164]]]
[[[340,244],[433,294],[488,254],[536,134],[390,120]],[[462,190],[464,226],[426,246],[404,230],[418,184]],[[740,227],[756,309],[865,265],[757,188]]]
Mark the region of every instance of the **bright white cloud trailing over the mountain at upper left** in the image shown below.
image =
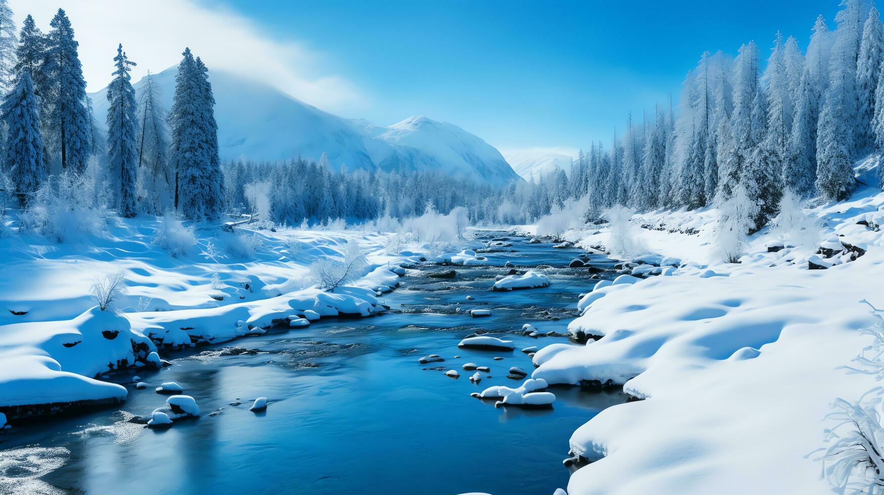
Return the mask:
[[[27,14],[46,32],[58,0],[11,0],[17,26]],[[194,0],[68,2],[80,42],[80,60],[88,91],[110,81],[117,43],[138,66],[133,80],[178,64],[190,47],[212,68],[260,80],[301,101],[332,112],[364,109],[362,92],[346,78],[324,73],[324,54],[291,41],[274,40],[254,21],[226,8],[208,7]]]

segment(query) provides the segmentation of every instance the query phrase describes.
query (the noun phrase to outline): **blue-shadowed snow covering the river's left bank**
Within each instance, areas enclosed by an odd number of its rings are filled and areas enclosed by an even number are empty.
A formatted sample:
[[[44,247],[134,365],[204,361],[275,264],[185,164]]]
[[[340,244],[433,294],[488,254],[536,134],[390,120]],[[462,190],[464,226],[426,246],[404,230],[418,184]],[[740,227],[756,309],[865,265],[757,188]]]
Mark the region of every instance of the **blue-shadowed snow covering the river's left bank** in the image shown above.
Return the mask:
[[[102,381],[102,374],[158,366],[159,356],[151,354],[157,350],[235,339],[285,326],[289,316],[293,326],[305,324],[299,316],[315,319],[305,311],[383,311],[377,294],[398,279],[390,269],[414,257],[396,252],[405,247],[399,245],[388,255],[384,234],[248,228],[197,229],[195,244],[171,242],[183,248],[178,252],[157,245],[162,220],[110,224],[65,243],[24,233],[0,239],[0,407],[122,400],[126,389]],[[348,242],[367,256],[361,278],[334,293],[313,288],[309,265],[342,258]],[[115,315],[96,308],[89,294],[95,278],[118,270],[127,293],[115,301]]]

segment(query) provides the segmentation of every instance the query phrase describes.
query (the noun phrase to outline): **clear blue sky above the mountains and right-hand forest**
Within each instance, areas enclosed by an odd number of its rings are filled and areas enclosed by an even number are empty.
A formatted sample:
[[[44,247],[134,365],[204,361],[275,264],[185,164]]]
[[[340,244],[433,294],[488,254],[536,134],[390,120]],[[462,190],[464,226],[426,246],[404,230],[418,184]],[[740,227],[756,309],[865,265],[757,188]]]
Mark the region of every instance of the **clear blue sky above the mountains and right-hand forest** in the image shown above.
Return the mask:
[[[804,50],[817,14],[834,28],[838,10],[838,0],[225,4],[327,55],[371,99],[367,114],[345,117],[421,114],[499,148],[609,141],[628,111],[677,100],[704,50],[735,54],[754,39],[766,57],[778,29]]]

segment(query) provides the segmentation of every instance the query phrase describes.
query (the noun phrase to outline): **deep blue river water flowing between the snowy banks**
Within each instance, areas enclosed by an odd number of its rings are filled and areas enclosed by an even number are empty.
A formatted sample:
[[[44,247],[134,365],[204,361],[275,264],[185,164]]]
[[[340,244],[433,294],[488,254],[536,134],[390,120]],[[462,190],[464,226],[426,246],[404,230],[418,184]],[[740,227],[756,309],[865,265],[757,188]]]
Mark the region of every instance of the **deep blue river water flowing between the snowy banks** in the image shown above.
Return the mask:
[[[507,371],[533,369],[523,347],[568,341],[522,335],[522,324],[566,332],[578,294],[598,281],[585,269],[545,268],[549,287],[490,292],[507,261],[519,269],[565,267],[578,254],[510,240],[502,249],[514,252],[484,254],[489,266],[452,267],[456,278],[427,278],[447,268],[436,266],[400,278],[400,289],[385,294],[392,310],[383,316],[328,319],[172,354],[173,366],[137,373],[146,390],[132,386],[135,373],[117,375],[129,388],[118,409],[0,435],[0,492],[552,494],[568,484],[561,461],[571,433],[626,397],[551,387],[551,409],[520,409],[469,396],[521,385]],[[611,264],[598,255],[592,263]],[[471,318],[470,308],[493,315]],[[457,347],[476,331],[514,340],[516,349]],[[446,361],[419,364],[425,354]],[[461,369],[466,362],[491,373],[473,385],[473,371]],[[447,369],[461,377],[446,377]],[[164,405],[165,396],[153,391],[164,381],[184,386],[202,416],[170,430],[127,423]],[[270,405],[255,414],[248,407],[258,396]]]

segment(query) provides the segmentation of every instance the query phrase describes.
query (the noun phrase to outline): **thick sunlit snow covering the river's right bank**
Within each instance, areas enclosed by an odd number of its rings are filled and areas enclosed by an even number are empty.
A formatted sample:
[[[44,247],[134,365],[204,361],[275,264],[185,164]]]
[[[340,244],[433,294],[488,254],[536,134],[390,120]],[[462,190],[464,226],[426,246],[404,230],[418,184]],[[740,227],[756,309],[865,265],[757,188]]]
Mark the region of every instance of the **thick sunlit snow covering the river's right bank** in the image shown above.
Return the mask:
[[[633,245],[644,254],[631,257],[679,268],[598,288],[569,331],[602,338],[534,357],[532,376],[551,385],[610,380],[643,399],[575,431],[572,450],[592,462],[568,493],[831,492],[821,463],[806,456],[826,446],[836,398],[878,385],[837,368],[872,342],[859,331],[876,321],[861,300],[884,308],[882,232],[857,225],[882,214],[884,194],[866,188],[812,210],[819,240],[766,228],[732,264],[715,247],[714,209],[634,217]],[[617,242],[607,228],[566,237],[583,247]],[[817,255],[835,265],[808,270],[819,246],[842,242],[867,253],[850,263]],[[768,252],[777,244],[786,247]]]

